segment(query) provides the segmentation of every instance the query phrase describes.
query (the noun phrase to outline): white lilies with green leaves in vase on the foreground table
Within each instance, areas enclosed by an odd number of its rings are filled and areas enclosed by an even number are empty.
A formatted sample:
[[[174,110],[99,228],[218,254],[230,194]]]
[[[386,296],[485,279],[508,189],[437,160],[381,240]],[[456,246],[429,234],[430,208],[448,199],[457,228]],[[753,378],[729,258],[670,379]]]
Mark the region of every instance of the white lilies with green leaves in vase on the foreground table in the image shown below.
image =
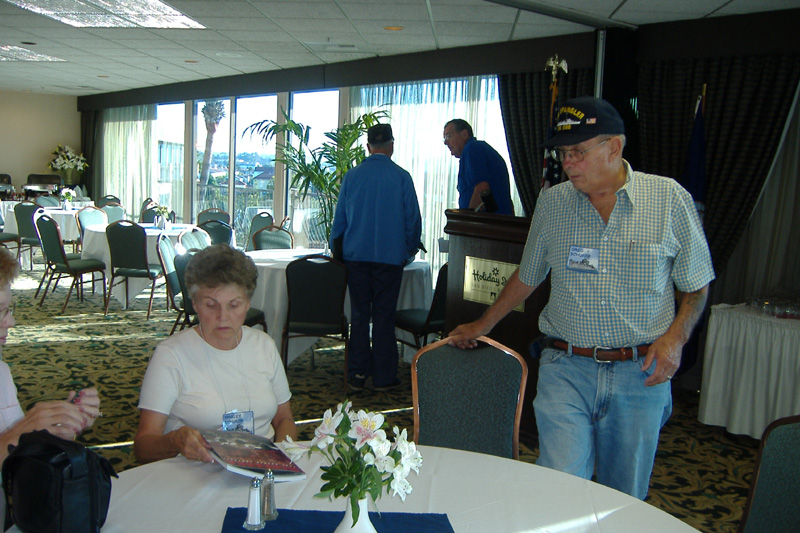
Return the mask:
[[[353,523],[358,521],[358,500],[369,495],[374,502],[387,493],[400,496],[405,501],[412,487],[408,475],[419,473],[422,455],[414,442],[409,441],[406,430],[395,426],[394,442],[386,438],[384,416],[364,410],[351,411],[348,401],[340,403],[336,412],[325,411],[322,423],[314,431],[314,439],[304,445],[287,437],[286,452],[293,460],[305,453],[322,453],[328,465],[321,467],[322,485],[318,498],[349,497]]]

